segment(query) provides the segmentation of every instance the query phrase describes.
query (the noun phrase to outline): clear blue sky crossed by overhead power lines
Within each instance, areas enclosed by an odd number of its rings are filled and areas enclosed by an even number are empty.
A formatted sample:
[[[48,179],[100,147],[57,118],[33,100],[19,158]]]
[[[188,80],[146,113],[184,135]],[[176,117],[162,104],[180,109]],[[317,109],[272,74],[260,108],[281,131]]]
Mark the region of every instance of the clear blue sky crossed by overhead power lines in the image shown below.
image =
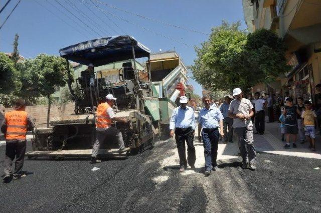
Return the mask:
[[[0,1],[0,8],[7,1]],[[18,1],[12,0],[0,14],[1,24]],[[211,28],[219,26],[222,20],[240,21],[241,27],[246,28],[241,0],[92,0],[100,10],[90,1],[21,0],[0,29],[0,51],[13,51],[16,33],[20,36],[20,55],[25,58],[34,58],[40,53],[59,55],[59,49],[63,47],[91,39],[130,35],[152,52],[175,50],[186,65],[192,65],[196,57],[194,47],[206,41]],[[191,78],[191,74],[189,77],[188,84],[201,96],[201,85]]]

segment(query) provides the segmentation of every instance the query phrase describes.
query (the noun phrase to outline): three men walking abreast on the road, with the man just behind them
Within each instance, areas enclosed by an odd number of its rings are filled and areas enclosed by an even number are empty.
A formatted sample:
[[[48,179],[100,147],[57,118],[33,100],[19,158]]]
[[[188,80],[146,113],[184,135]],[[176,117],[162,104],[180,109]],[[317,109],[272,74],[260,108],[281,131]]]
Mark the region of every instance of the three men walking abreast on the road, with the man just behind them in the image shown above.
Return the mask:
[[[242,156],[242,168],[256,169],[256,152],[253,146],[253,105],[250,100],[243,97],[240,88],[233,90],[234,100],[225,97],[220,109],[213,106],[209,96],[203,97],[204,107],[198,115],[198,140],[203,141],[205,175],[217,170],[217,151],[220,136],[225,141],[232,142],[233,130],[238,136],[239,148]],[[195,169],[195,115],[193,108],[187,106],[188,98],[180,98],[181,105],[172,114],[170,121],[170,136],[175,135],[180,158],[180,172],[184,172],[190,165]],[[233,126],[233,127],[232,127]],[[228,129],[228,132],[227,132]],[[185,151],[187,144],[187,158]]]

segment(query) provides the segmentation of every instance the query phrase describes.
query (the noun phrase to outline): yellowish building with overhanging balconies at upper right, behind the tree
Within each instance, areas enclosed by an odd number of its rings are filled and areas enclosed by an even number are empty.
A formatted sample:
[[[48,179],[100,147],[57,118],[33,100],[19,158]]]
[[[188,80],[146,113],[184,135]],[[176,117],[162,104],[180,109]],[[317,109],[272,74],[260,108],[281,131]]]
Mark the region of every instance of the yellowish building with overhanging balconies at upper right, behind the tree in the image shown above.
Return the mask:
[[[321,83],[321,1],[243,0],[243,9],[249,32],[271,29],[288,48],[293,69],[266,89],[314,102],[314,86]]]

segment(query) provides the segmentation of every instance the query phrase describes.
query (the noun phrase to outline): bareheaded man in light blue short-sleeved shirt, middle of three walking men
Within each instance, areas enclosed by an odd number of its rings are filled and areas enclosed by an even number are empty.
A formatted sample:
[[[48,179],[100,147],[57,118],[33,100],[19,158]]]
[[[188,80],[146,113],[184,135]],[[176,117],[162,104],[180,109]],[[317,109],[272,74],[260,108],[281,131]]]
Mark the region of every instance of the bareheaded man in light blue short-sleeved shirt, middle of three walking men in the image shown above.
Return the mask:
[[[211,170],[217,170],[217,149],[218,142],[223,133],[223,115],[221,111],[211,106],[209,96],[203,97],[205,107],[199,112],[198,139],[203,139],[204,157],[205,157],[205,175],[210,175]],[[220,132],[219,128],[220,127]],[[201,138],[202,130],[202,138]]]

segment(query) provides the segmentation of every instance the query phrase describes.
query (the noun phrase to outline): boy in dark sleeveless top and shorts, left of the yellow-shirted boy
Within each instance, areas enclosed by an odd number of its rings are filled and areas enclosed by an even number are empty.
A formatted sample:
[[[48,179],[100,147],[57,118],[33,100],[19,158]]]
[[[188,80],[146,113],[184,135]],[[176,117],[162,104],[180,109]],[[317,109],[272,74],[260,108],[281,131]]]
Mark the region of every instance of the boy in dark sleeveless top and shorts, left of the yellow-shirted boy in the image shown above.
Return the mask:
[[[284,148],[290,148],[290,141],[292,141],[292,147],[296,148],[296,135],[297,135],[297,116],[300,115],[300,111],[293,105],[293,99],[291,97],[286,99],[286,106],[284,107],[283,114],[285,116],[285,133],[286,143]]]

